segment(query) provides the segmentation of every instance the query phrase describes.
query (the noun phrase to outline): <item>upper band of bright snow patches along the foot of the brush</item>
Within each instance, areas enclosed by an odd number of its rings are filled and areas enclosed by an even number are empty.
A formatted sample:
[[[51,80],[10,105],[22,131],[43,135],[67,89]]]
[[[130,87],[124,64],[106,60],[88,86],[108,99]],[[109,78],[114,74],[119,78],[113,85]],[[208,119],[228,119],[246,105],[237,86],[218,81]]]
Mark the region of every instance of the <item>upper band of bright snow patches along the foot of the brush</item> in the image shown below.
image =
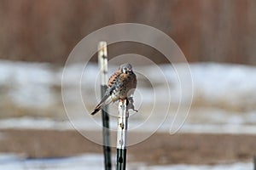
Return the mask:
[[[7,60],[0,60],[0,85],[8,85],[10,88],[15,86],[15,91],[12,92],[14,98],[17,98],[17,103],[27,103],[27,105],[35,105],[34,99],[30,98],[31,94],[38,94],[33,96],[41,96],[40,103],[47,104],[50,99],[49,86],[60,84],[62,78],[62,69],[53,69],[54,65],[25,63],[25,62],[11,62]],[[110,65],[109,70],[114,71],[117,65]],[[177,88],[179,88],[178,76],[174,68],[177,70],[184,70],[185,64],[176,65],[160,65],[160,68],[155,66],[140,66],[135,71],[147,76],[150,82],[158,84],[154,87],[157,93],[165,94],[166,89],[161,89],[165,86],[165,81],[172,83],[172,99],[177,99],[175,96]],[[227,65],[216,63],[196,63],[189,65],[194,83],[195,93],[200,93],[205,99],[217,101],[218,99],[236,100],[241,97],[253,98],[254,102],[256,94],[252,94],[256,88],[256,68],[246,65]],[[99,71],[96,64],[84,65],[69,65],[65,68],[67,74],[64,81],[70,86],[75,85],[74,82],[81,81],[84,88],[95,88],[95,83],[98,83]],[[84,72],[79,72],[83,70]],[[90,76],[89,76],[90,75]],[[139,77],[145,78],[145,77]],[[140,82],[139,86],[140,86]],[[191,88],[191,87],[188,87]],[[93,89],[94,90],[94,89]],[[148,88],[142,87],[142,90],[148,91]],[[146,93],[143,93],[147,95]],[[228,94],[228,95],[226,95]],[[42,95],[48,95],[48,98]],[[25,98],[25,99],[22,99]],[[150,97],[144,97],[151,99]],[[22,99],[22,100],[21,100]],[[32,102],[32,103],[30,103]],[[148,100],[152,102],[152,100]],[[177,101],[175,101],[177,102]]]

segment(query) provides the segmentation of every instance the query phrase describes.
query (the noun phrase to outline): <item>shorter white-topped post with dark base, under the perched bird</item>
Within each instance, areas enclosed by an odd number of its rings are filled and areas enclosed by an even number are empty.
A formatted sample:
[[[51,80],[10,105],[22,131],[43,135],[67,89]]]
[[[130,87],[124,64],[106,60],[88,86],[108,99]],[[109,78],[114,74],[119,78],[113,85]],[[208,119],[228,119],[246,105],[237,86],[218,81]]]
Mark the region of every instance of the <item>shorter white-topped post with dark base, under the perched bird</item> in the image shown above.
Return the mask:
[[[126,138],[129,112],[126,99],[119,101],[118,132],[117,132],[117,170],[126,167]]]

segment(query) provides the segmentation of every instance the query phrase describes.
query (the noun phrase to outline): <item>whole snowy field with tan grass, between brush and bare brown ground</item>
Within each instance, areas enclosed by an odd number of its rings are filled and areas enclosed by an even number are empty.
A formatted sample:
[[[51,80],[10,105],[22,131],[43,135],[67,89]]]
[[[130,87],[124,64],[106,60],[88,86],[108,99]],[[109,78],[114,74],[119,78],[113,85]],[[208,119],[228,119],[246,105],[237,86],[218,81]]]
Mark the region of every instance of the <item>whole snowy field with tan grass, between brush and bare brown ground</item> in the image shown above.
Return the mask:
[[[117,67],[109,65],[109,74]],[[131,129],[139,131],[143,125],[143,130],[256,132],[256,67],[217,63],[189,67],[191,72],[186,64],[134,65],[139,112],[131,115]],[[0,60],[0,127],[66,129],[73,128],[71,121],[75,127],[100,129],[101,117],[88,114],[100,99],[98,66],[77,64],[65,69],[62,75],[63,68],[55,65]],[[67,115],[61,98],[62,76]],[[188,112],[191,94],[193,105]],[[116,105],[110,108],[113,127],[115,109]]]

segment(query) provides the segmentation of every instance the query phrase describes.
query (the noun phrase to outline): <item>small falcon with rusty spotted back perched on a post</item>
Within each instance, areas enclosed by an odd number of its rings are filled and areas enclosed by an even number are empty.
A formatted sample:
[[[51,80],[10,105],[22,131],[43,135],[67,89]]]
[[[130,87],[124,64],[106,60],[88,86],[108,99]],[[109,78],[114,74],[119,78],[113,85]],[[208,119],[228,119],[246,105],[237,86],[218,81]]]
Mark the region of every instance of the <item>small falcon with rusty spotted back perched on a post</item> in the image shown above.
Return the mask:
[[[102,106],[113,103],[119,99],[129,100],[132,94],[131,90],[134,90],[136,87],[137,77],[132,71],[132,66],[130,64],[120,65],[119,70],[109,77],[106,93],[101,102],[96,105],[95,110],[90,114],[95,115],[102,109]]]

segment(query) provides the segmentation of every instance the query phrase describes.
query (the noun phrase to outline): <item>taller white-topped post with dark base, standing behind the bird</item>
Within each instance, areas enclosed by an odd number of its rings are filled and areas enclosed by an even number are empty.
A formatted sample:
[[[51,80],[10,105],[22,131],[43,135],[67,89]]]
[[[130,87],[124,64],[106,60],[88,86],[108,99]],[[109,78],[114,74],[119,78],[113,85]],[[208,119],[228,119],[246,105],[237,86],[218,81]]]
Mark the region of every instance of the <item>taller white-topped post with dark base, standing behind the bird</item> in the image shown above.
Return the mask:
[[[102,97],[108,88],[108,54],[107,42],[99,42],[98,45],[98,63],[101,69],[101,89]],[[111,170],[111,148],[110,148],[110,133],[109,133],[109,116],[108,106],[102,108],[102,135],[103,135],[103,151],[105,170]]]

